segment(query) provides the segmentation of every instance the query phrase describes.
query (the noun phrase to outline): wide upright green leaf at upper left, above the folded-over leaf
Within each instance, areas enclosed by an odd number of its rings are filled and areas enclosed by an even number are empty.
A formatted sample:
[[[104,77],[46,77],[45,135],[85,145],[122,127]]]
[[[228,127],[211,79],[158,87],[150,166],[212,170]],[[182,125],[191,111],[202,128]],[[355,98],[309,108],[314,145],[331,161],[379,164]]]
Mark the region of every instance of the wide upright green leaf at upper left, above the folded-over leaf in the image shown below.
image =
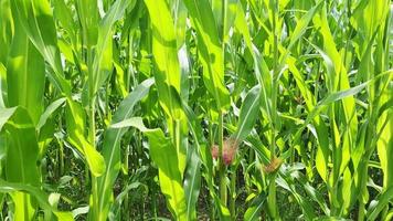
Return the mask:
[[[43,112],[45,64],[15,15],[15,34],[7,63],[8,106],[24,107],[34,124]]]

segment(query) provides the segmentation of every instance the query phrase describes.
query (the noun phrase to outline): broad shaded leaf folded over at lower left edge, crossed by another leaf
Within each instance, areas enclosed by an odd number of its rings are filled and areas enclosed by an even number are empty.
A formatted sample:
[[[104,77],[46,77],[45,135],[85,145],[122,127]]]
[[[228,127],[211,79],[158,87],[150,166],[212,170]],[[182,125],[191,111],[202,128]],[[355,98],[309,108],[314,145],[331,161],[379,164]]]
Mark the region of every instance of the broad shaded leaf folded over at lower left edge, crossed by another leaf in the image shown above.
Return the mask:
[[[6,179],[10,182],[40,187],[41,175],[36,166],[39,145],[35,128],[28,112],[22,107],[0,109],[0,130],[6,134],[6,141],[1,141],[1,149],[7,149]],[[22,192],[11,194],[15,203],[14,219],[31,220],[36,203],[32,196]]]

